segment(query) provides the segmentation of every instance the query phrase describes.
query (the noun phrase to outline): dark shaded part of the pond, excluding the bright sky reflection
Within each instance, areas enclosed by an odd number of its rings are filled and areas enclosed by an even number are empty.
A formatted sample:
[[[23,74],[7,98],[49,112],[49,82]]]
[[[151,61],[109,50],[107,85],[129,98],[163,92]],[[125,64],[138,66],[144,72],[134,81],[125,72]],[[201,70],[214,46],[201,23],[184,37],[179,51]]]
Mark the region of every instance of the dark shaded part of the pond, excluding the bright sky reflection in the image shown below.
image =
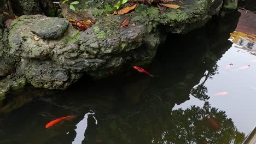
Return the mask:
[[[241,142],[245,134],[224,111],[211,107],[204,86],[218,73],[216,62],[232,45],[229,33],[238,17],[238,13],[215,17],[211,24],[188,34],[169,35],[145,68],[158,77],[130,70],[100,81],[85,77],[65,91],[35,96],[3,114],[0,143]],[[202,77],[205,81],[200,83]],[[204,106],[172,110],[175,104],[189,100],[190,93],[205,101]],[[77,118],[44,128],[51,120],[68,115]]]

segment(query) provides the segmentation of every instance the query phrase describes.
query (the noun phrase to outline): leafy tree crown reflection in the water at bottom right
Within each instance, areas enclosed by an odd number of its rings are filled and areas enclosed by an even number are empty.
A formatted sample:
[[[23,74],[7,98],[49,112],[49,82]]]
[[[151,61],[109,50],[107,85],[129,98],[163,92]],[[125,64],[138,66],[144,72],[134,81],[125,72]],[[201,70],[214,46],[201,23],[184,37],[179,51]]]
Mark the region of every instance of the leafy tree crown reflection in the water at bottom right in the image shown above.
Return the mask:
[[[218,129],[211,125],[210,118],[219,124]],[[171,123],[168,130],[156,140],[160,143],[240,143],[245,137],[224,111],[211,107],[208,102],[202,108],[173,110],[167,123]]]

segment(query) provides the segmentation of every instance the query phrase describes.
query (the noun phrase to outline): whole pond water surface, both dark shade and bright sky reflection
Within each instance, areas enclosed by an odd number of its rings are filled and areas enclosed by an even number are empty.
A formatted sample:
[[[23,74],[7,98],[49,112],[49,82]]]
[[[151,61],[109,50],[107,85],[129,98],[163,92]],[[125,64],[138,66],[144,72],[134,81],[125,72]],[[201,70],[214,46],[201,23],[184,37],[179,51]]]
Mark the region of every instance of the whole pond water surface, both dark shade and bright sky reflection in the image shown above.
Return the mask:
[[[256,52],[228,40],[239,16],[168,35],[143,67],[157,77],[131,69],[10,93],[0,143],[240,143],[256,127]],[[45,128],[64,116],[76,117]]]

